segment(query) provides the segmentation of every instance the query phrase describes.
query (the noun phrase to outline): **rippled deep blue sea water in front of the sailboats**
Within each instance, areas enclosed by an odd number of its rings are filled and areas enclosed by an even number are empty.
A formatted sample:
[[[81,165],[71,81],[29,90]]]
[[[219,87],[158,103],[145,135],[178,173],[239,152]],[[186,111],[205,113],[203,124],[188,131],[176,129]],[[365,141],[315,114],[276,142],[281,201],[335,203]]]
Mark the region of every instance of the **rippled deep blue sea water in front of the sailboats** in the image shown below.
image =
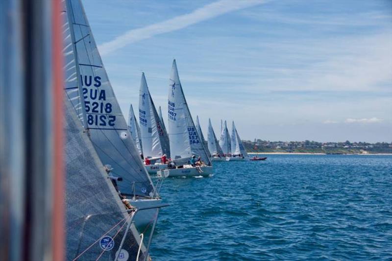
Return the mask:
[[[392,156],[268,155],[166,179],[151,256],[391,260]]]

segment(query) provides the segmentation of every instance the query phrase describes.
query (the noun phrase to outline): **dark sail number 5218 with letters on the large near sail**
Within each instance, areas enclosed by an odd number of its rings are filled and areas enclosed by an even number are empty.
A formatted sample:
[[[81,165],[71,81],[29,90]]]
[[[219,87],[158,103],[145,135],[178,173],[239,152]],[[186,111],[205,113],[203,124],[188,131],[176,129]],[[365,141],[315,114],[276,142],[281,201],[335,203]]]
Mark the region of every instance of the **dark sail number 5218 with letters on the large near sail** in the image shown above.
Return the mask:
[[[101,86],[101,77],[80,75],[82,80],[84,106],[86,109],[87,123],[89,126],[110,126],[116,124],[116,116],[108,115],[112,113],[112,103],[106,101],[105,90],[99,90]],[[94,79],[94,82],[93,82]],[[87,88],[93,85],[96,88]]]

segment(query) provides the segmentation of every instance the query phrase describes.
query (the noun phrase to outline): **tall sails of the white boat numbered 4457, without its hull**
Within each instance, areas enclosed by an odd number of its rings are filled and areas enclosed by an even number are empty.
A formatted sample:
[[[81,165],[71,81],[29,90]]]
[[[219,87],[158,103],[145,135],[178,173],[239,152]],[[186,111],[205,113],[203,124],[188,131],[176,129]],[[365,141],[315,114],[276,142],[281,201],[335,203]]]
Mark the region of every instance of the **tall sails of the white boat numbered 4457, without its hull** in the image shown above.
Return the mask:
[[[169,137],[172,159],[200,156],[207,165],[211,165],[209,155],[197,134],[195,123],[189,112],[177,65],[173,60],[172,72],[169,80]]]

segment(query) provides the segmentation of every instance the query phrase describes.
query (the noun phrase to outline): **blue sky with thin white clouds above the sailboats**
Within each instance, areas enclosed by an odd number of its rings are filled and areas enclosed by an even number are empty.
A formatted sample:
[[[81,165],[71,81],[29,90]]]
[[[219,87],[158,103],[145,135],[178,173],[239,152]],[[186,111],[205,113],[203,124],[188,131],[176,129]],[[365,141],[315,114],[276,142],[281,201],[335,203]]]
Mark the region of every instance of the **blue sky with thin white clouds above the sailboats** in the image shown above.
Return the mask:
[[[392,1],[82,2],[125,117],[142,71],[167,111],[175,58],[204,131],[392,142]]]

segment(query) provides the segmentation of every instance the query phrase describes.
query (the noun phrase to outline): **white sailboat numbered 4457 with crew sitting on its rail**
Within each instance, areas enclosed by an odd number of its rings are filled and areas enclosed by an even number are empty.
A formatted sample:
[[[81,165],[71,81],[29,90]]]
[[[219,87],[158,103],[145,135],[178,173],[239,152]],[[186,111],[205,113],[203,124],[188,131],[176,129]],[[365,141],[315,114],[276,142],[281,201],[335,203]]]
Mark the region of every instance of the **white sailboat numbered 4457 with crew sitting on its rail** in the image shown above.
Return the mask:
[[[173,60],[169,80],[168,118],[171,156],[174,162],[177,161],[177,164],[176,166],[171,166],[171,168],[158,171],[158,177],[192,177],[209,176],[212,174],[212,164],[189,111],[175,60]],[[205,165],[196,167],[178,164],[179,160],[187,162],[192,156],[200,157]]]

